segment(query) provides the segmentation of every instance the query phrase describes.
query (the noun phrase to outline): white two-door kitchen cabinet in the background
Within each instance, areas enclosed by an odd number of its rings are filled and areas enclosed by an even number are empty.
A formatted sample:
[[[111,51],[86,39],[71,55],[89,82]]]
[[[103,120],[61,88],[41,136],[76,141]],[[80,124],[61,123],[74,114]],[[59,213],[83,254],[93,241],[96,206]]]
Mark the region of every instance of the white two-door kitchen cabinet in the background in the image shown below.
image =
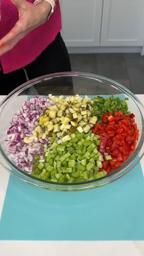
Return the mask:
[[[143,46],[144,0],[60,0],[68,47]]]

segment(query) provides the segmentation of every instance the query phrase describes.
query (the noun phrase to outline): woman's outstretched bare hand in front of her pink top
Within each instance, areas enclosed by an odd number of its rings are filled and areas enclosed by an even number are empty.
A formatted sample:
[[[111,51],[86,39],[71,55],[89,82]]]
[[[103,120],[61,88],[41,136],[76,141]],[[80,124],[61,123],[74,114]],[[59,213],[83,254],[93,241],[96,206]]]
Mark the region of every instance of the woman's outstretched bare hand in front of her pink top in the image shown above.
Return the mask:
[[[0,40],[0,56],[16,45],[30,31],[45,23],[51,5],[47,1],[31,4],[25,0],[10,0],[18,9],[19,20],[11,31]]]

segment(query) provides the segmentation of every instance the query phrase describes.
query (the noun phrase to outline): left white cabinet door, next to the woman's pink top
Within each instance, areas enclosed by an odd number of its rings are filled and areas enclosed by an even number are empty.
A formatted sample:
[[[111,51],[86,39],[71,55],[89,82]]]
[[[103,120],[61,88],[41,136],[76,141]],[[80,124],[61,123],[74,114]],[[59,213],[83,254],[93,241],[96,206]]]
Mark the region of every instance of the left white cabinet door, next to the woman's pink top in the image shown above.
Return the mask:
[[[103,0],[61,0],[60,5],[66,45],[99,46]]]

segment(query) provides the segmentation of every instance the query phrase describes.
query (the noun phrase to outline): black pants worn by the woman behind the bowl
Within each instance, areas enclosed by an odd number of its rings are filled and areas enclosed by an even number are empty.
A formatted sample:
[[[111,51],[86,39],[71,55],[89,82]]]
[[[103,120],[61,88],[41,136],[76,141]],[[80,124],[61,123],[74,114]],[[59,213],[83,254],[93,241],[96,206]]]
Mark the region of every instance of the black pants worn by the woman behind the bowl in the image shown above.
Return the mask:
[[[57,34],[54,42],[52,42],[34,62],[25,66],[24,69],[26,70],[29,80],[50,73],[71,71],[68,51],[60,33]],[[4,74],[1,67],[0,95],[9,94],[13,89],[27,81],[24,69],[20,68],[11,73]]]

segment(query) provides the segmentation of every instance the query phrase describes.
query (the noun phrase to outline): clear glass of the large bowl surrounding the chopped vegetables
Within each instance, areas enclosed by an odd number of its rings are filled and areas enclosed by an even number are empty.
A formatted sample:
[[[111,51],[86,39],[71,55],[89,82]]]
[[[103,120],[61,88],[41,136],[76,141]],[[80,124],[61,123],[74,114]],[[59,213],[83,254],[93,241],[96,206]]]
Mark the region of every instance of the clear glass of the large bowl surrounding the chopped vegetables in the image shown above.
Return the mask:
[[[135,86],[137,85],[135,84]],[[78,93],[79,95],[119,95],[120,97],[128,97],[129,110],[135,114],[135,122],[137,122],[140,133],[135,152],[132,153],[130,158],[117,170],[105,177],[92,181],[81,183],[56,183],[40,180],[26,174],[26,172],[17,167],[10,160],[9,156],[7,156],[5,131],[9,128],[12,117],[15,112],[20,109],[24,100],[35,95],[44,95],[48,97],[49,93],[52,93],[53,95],[76,95]],[[15,175],[15,177],[20,180],[41,188],[57,191],[78,191],[106,185],[128,173],[137,163],[139,163],[144,153],[144,108],[142,103],[140,103],[139,99],[126,89],[126,87],[118,82],[104,78],[103,76],[88,73],[67,72],[45,75],[33,79],[32,81],[28,81],[13,90],[13,92],[1,102],[0,123],[0,161],[2,166],[4,166],[10,174]]]

